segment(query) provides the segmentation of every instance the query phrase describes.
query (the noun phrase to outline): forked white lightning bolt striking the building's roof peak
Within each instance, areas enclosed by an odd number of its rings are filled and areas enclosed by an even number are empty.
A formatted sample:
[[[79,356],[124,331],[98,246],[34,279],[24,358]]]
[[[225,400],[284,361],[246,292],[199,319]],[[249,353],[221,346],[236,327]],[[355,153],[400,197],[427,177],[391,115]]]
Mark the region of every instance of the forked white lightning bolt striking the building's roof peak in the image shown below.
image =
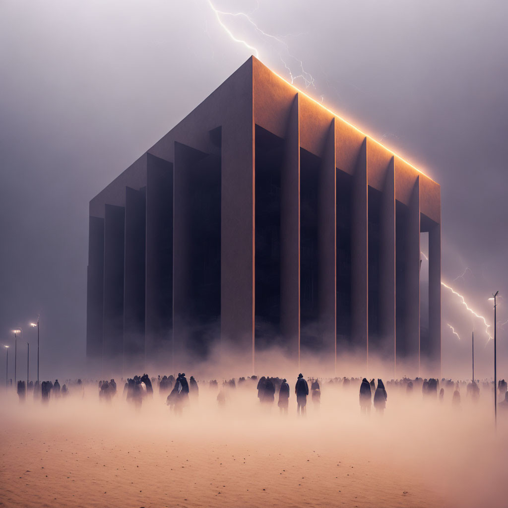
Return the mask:
[[[267,32],[263,31],[253,20],[252,18],[245,12],[228,12],[228,11],[220,11],[218,10],[211,2],[211,0],[207,0],[208,2],[208,5],[210,6],[210,8],[212,9],[212,11],[215,13],[215,17],[217,19],[217,22],[218,24],[220,25],[220,27],[226,32],[226,34],[228,34],[228,36],[230,37],[230,39],[232,39],[234,42],[238,43],[238,44],[242,44],[244,45],[247,49],[251,50],[252,51],[252,54],[256,56],[256,58],[259,58],[259,51],[258,51],[258,48],[256,48],[255,46],[252,46],[251,44],[249,44],[247,41],[243,40],[243,39],[238,39],[237,37],[234,36],[233,32],[231,31],[231,29],[228,27],[228,25],[223,21],[224,17],[226,16],[230,16],[230,17],[236,17],[236,18],[243,18],[245,19],[256,31],[256,33],[258,33],[260,36],[266,38],[266,39],[269,39],[271,41],[276,41],[278,44],[282,45],[282,47],[284,48],[284,53],[287,54],[287,56],[290,58],[290,59],[293,59],[297,62],[298,64],[298,73],[293,73],[293,71],[291,70],[291,68],[289,67],[288,65],[288,62],[286,61],[286,59],[284,59],[282,57],[282,55],[280,54],[279,52],[279,57],[280,57],[280,60],[282,62],[282,64],[284,65],[284,68],[287,69],[288,73],[289,73],[289,76],[290,76],[290,79],[291,79],[291,84],[293,84],[295,82],[295,80],[301,78],[303,79],[304,83],[305,83],[305,88],[308,88],[310,85],[314,86],[315,87],[315,84],[314,84],[314,78],[307,72],[305,71],[305,69],[303,68],[303,61],[300,60],[299,58],[297,58],[295,55],[291,54],[290,50],[289,50],[289,45],[287,42],[285,42],[280,36],[274,36],[272,34],[268,34]],[[258,3],[258,7],[259,7],[259,3]],[[256,7],[255,10],[258,9],[258,7]],[[253,11],[252,11],[253,12]]]

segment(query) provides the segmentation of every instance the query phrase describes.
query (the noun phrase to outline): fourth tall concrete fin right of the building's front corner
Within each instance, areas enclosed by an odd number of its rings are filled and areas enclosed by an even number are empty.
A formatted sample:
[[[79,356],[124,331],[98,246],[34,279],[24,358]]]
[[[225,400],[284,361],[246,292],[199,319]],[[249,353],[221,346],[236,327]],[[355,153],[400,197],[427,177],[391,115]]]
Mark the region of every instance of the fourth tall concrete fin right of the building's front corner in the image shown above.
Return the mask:
[[[393,157],[381,198],[379,249],[379,354],[395,369],[395,167]]]

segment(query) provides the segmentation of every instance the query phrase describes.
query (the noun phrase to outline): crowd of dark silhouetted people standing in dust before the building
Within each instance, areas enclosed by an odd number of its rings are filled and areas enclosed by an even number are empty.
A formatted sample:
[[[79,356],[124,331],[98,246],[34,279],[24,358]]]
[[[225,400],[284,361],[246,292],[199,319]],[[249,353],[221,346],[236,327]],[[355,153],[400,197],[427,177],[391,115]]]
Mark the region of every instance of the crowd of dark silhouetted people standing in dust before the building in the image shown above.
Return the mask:
[[[136,408],[141,408],[143,400],[146,398],[153,398],[154,386],[158,390],[158,394],[165,400],[171,412],[175,415],[182,415],[184,408],[190,403],[195,403],[199,398],[198,382],[194,376],[190,376],[189,380],[185,373],[178,373],[175,377],[170,375],[159,375],[157,378],[149,377],[148,374],[135,375],[133,378],[123,380],[124,387],[122,392],[123,399],[132,404]],[[296,398],[296,412],[297,415],[306,414],[307,398],[310,395],[314,410],[319,409],[321,403],[321,384],[326,383],[327,387],[341,385],[343,388],[351,388],[352,386],[359,385],[359,404],[362,414],[369,414],[372,405],[377,413],[383,414],[387,407],[387,389],[382,379],[377,379],[377,384],[374,379],[370,382],[367,378],[329,378],[329,379],[306,379],[303,374],[299,374],[294,388]],[[291,388],[288,380],[280,377],[261,376],[258,378],[256,375],[248,377],[240,377],[238,380],[225,379],[221,386],[216,379],[203,382],[209,388],[218,391],[216,401],[219,408],[224,408],[227,404],[228,393],[231,390],[239,387],[254,387],[256,386],[257,397],[259,403],[266,408],[270,408],[275,403],[277,398],[277,406],[281,414],[288,414],[291,398]],[[73,383],[77,390],[84,393],[84,384],[81,379]],[[310,390],[309,390],[310,385]],[[422,379],[417,377],[415,379],[392,379],[387,383],[389,389],[403,390],[406,395],[412,395],[416,388],[421,388],[423,399],[438,399],[443,401],[444,390],[447,389],[453,393],[452,404],[454,407],[459,408],[461,405],[461,390],[465,392],[466,397],[472,402],[477,402],[480,398],[480,386],[484,389],[491,389],[492,382],[485,379],[482,383],[480,380],[471,380],[466,383],[464,381],[453,382],[451,379]],[[498,407],[500,410],[508,411],[508,385],[504,379],[500,379],[497,383],[498,393]],[[101,403],[110,403],[117,395],[117,386],[114,379],[100,380],[98,382],[99,401]],[[69,394],[67,384],[60,387],[58,379],[55,382],[38,381],[28,382],[25,384],[23,380],[17,383],[17,394],[20,402],[24,402],[28,394],[33,394],[34,400],[40,400],[42,403],[47,404],[51,399],[65,398]]]

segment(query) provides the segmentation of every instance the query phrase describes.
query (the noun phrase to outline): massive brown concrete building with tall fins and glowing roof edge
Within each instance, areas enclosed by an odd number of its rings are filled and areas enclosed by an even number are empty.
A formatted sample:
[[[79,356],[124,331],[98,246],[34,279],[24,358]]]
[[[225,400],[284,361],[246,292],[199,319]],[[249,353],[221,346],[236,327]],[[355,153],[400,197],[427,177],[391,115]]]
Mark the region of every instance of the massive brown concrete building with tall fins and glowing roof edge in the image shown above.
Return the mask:
[[[87,356],[439,375],[440,251],[439,185],[251,57],[90,201]]]

